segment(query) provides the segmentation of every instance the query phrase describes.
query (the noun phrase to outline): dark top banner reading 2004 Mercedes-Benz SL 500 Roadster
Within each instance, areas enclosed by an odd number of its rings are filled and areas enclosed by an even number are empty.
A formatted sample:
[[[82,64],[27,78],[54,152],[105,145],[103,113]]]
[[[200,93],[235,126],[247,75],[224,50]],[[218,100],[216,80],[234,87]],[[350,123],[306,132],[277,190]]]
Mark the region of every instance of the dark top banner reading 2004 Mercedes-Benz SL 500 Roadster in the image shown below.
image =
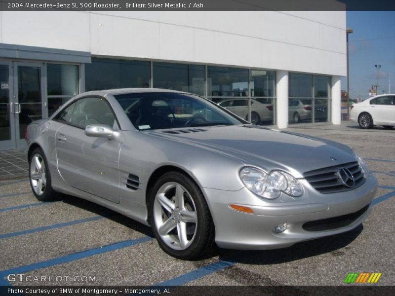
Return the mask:
[[[0,0],[0,10],[395,10],[389,0]]]

